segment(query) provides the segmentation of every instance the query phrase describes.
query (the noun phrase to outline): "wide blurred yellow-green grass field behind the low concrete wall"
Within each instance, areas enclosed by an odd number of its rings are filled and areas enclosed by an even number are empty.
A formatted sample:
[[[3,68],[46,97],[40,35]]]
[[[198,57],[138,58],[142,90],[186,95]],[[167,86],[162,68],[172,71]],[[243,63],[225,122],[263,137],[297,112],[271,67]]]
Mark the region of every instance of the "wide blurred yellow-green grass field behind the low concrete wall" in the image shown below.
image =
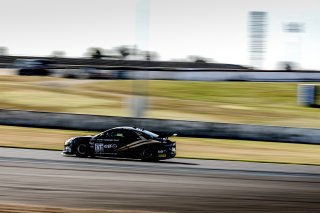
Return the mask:
[[[0,108],[130,116],[135,92],[148,94],[146,117],[320,128],[320,110],[298,106],[296,90],[297,83],[0,76]]]

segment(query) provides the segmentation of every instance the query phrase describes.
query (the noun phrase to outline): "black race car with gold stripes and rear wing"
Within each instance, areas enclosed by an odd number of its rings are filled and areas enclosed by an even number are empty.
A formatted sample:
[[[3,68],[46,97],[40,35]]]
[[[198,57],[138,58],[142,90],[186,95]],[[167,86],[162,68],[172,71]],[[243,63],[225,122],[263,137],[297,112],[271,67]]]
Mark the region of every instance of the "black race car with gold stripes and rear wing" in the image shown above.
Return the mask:
[[[80,136],[64,143],[64,155],[78,157],[114,156],[157,161],[174,158],[176,143],[168,139],[175,134],[157,135],[135,127],[116,127],[94,136]]]

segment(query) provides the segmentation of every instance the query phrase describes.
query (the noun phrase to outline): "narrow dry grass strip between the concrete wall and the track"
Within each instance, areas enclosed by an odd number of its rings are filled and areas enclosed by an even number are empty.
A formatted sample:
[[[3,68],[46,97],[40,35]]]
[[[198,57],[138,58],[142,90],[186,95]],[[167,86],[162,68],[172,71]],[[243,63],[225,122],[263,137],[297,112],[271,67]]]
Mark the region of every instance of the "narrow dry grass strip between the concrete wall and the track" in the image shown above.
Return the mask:
[[[68,138],[96,132],[0,126],[0,146],[62,150]],[[205,138],[171,138],[177,157],[320,165],[320,146]]]

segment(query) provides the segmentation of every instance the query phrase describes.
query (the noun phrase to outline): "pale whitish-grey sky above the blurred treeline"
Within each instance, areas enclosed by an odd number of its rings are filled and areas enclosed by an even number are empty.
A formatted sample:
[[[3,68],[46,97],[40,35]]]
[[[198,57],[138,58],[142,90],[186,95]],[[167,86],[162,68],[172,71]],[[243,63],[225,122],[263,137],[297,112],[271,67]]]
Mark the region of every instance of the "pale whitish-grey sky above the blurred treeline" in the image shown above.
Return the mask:
[[[88,47],[142,44],[162,60],[201,55],[249,65],[248,12],[268,12],[264,68],[296,60],[320,69],[319,0],[149,0],[148,27],[137,25],[141,0],[0,0],[0,46],[12,55],[83,56]],[[287,22],[305,32],[288,34]],[[140,32],[148,32],[143,37]],[[140,33],[139,33],[140,32]],[[137,36],[138,35],[138,36]],[[142,40],[142,41],[141,41]]]

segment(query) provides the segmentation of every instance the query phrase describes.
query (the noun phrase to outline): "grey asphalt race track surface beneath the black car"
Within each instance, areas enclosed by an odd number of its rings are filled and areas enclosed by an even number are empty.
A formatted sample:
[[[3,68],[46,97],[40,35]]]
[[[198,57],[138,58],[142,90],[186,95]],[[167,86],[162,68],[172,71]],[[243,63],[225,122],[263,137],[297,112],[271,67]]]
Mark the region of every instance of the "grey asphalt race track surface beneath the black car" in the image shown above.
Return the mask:
[[[320,212],[320,167],[64,157],[0,148],[0,202],[161,212]]]

